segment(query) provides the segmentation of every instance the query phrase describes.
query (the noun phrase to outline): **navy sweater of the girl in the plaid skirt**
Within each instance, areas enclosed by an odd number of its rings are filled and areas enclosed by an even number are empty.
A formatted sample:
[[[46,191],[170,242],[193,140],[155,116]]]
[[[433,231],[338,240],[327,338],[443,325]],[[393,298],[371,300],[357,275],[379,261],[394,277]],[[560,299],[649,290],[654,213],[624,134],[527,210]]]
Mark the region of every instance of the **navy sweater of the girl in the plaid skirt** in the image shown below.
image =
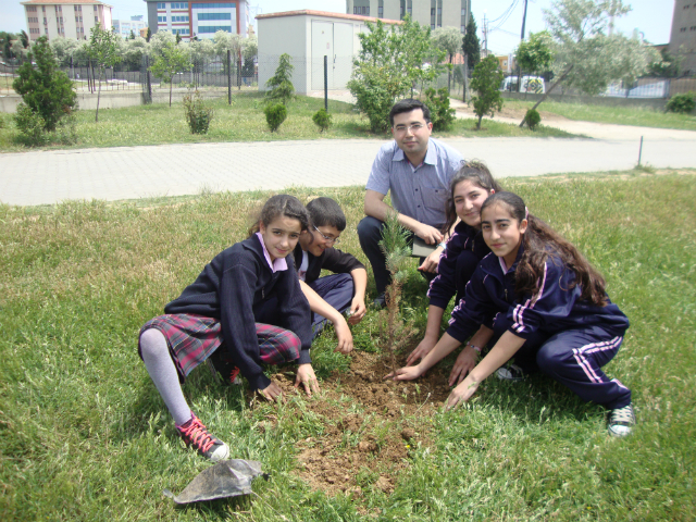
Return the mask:
[[[164,307],[164,313],[195,313],[220,320],[224,346],[252,389],[265,388],[259,357],[256,315],[265,301],[277,299],[276,324],[294,332],[301,341],[299,364],[311,362],[312,343],[309,302],[300,289],[290,256],[287,270],[273,273],[263,247],[253,235],[220,252],[206,265],[194,284]]]

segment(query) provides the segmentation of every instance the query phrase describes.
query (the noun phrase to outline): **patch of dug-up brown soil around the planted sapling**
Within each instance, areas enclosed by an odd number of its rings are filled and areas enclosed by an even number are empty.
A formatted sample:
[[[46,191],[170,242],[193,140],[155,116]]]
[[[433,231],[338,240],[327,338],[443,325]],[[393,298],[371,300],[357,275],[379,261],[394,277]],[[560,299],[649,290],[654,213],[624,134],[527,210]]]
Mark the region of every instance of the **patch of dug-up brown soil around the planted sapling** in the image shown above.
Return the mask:
[[[363,487],[390,494],[409,465],[409,451],[431,444],[427,419],[449,395],[447,373],[435,368],[415,382],[385,381],[389,370],[382,356],[352,352],[351,358],[348,373],[335,372],[322,383],[322,397],[306,402],[325,430],[296,445],[296,473],[328,495],[361,497]],[[291,375],[273,378],[285,394],[298,394]]]

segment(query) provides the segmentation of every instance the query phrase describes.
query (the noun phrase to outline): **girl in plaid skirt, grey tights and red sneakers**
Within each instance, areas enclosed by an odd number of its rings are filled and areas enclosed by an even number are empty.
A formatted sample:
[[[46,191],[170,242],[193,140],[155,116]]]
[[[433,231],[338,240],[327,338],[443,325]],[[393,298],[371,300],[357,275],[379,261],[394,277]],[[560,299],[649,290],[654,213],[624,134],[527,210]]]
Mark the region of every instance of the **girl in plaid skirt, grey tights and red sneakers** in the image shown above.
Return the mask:
[[[264,204],[249,237],[222,251],[182,295],[164,307],[165,315],[140,330],[138,351],[179,435],[203,457],[223,460],[228,446],[213,437],[188,407],[182,384],[215,350],[239,371],[251,389],[269,400],[281,387],[263,374],[261,363],[297,361],[295,385],[319,391],[311,365],[309,303],[300,289],[293,252],[308,227],[307,210],[293,196],[274,196]],[[239,370],[237,370],[237,368]]]

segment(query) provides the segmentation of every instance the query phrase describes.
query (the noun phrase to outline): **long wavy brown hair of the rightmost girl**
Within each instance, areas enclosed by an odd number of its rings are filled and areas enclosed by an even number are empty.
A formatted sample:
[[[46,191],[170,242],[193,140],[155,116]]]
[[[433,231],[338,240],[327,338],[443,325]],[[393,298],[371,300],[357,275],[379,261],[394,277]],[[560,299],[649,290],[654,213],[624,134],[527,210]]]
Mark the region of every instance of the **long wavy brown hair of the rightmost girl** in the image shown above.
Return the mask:
[[[549,254],[554,254],[575,274],[575,282],[571,288],[580,285],[582,289],[581,299],[598,307],[607,306],[608,299],[604,277],[589,264],[574,245],[566,240],[543,220],[529,213],[524,201],[517,194],[494,194],[484,201],[481,212],[483,213],[484,209],[496,203],[505,204],[510,215],[518,223],[521,223],[522,220],[527,220],[526,232],[522,236],[524,252],[514,272],[514,290],[518,297],[535,294],[538,290],[538,282],[544,274],[544,265]]]

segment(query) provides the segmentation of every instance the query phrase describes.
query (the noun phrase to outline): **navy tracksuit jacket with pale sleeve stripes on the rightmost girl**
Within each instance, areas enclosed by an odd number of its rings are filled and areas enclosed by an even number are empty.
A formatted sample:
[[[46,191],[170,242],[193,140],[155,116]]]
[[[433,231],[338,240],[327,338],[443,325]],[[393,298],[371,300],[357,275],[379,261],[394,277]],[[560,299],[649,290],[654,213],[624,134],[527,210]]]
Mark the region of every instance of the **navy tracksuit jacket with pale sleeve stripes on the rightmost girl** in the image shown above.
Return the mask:
[[[486,256],[467,285],[467,294],[452,310],[447,333],[460,343],[473,335],[481,324],[493,330],[500,320],[507,330],[529,338],[535,332],[547,335],[599,326],[610,335],[622,336],[629,327],[629,319],[619,307],[609,301],[598,307],[581,300],[582,289],[574,286],[575,273],[552,253],[546,260],[539,291],[518,299],[514,294],[514,272],[522,257],[520,247],[514,264],[502,273],[500,260],[494,253]],[[499,314],[499,315],[498,315]]]

